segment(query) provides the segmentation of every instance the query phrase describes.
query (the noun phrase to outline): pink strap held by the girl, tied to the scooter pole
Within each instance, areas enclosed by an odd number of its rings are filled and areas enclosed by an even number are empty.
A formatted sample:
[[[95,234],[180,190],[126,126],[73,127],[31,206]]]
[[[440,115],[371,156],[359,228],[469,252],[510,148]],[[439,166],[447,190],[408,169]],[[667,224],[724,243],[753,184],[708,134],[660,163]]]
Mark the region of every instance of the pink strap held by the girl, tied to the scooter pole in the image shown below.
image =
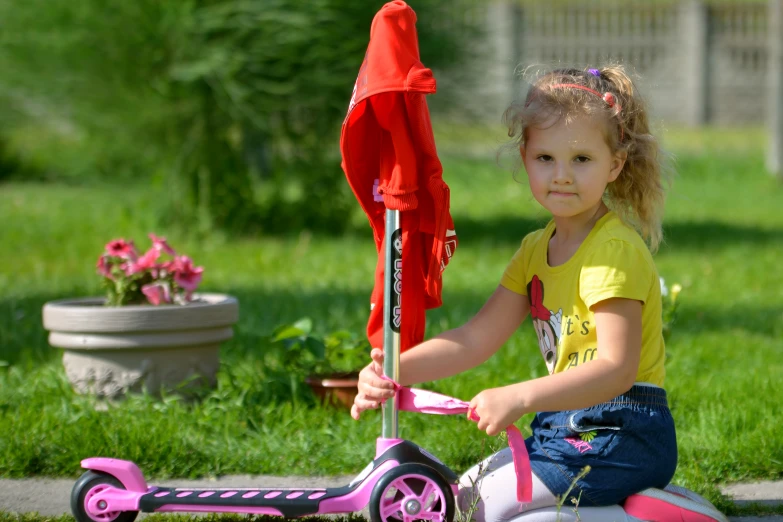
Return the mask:
[[[397,406],[400,410],[434,415],[468,413],[470,420],[479,420],[475,410],[470,410],[470,404],[465,401],[429,390],[404,388],[386,376],[383,376],[383,379],[394,385],[394,390],[397,392]],[[533,471],[530,469],[530,457],[525,447],[525,439],[519,428],[513,424],[506,428],[506,435],[508,435],[508,446],[511,448],[511,459],[514,462],[514,472],[517,476],[517,500],[523,503],[531,502],[533,499]]]

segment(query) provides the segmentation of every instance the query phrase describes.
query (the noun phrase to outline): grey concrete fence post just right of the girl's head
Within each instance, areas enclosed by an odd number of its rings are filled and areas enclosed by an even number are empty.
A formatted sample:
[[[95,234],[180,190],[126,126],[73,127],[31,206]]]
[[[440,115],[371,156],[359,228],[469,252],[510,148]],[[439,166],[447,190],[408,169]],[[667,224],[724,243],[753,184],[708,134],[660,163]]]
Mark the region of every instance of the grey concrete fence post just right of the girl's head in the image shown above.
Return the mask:
[[[772,0],[774,1],[774,0]],[[682,24],[682,121],[697,127],[709,118],[709,16],[702,0],[680,4]]]

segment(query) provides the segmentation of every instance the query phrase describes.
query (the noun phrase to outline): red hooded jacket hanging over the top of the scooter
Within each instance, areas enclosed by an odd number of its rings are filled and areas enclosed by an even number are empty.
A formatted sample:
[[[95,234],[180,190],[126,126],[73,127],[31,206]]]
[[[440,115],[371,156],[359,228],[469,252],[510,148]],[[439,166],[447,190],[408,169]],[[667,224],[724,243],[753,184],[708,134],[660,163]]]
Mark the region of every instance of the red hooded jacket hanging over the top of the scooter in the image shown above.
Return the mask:
[[[403,1],[387,3],[373,19],[340,136],[343,171],[379,253],[367,325],[374,347],[383,344],[386,208],[402,216],[402,350],[424,338],[425,309],[442,304],[441,272],[457,246],[425,100],[434,92],[419,60],[416,14]]]

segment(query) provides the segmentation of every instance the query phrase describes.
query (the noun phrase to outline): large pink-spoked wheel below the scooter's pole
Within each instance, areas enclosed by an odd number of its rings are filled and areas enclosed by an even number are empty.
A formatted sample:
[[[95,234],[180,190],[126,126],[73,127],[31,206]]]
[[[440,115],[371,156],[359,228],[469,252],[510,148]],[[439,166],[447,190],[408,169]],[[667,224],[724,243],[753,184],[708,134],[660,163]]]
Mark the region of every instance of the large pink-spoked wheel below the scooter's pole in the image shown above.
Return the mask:
[[[454,493],[431,467],[402,464],[378,480],[369,508],[372,522],[452,522]]]

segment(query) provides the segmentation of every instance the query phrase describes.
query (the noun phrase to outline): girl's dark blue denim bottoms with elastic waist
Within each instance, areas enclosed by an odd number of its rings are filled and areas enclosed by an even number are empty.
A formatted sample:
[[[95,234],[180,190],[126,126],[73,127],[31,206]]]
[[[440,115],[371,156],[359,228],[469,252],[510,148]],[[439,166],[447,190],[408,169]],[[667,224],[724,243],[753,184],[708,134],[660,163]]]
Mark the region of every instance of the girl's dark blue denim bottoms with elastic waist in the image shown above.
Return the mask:
[[[666,391],[635,385],[583,410],[538,413],[525,444],[533,472],[580,506],[608,506],[646,488],[665,487],[677,467],[677,438]],[[570,500],[566,504],[570,505]]]

